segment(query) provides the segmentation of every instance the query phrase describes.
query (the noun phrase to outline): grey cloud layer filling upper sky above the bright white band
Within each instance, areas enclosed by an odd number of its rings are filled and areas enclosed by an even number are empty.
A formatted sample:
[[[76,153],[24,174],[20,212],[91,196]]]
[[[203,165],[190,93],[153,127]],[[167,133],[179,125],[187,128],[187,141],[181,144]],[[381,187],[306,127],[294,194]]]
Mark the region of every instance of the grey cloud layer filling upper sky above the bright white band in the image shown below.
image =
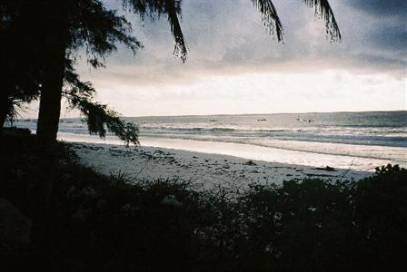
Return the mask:
[[[104,77],[164,84],[256,69],[405,72],[407,41],[405,19],[400,15],[406,12],[407,0],[331,0],[342,32],[339,44],[327,41],[323,22],[300,1],[273,2],[283,21],[284,44],[267,34],[249,0],[184,0],[182,26],[190,49],[185,64],[173,55],[167,20],[146,20],[143,26],[134,24],[144,49],[134,57],[120,47],[107,58]]]

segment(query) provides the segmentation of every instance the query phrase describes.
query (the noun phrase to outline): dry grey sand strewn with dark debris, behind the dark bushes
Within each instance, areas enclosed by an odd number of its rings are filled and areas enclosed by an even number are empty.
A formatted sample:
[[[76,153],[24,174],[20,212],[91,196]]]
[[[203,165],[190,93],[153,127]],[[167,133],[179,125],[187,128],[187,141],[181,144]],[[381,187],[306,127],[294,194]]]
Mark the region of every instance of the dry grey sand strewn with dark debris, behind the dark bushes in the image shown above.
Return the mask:
[[[173,179],[190,181],[191,189],[219,187],[246,189],[251,183],[320,178],[361,179],[368,171],[323,168],[246,160],[243,158],[156,147],[130,147],[101,143],[70,143],[81,163],[104,174],[125,174],[130,180]]]

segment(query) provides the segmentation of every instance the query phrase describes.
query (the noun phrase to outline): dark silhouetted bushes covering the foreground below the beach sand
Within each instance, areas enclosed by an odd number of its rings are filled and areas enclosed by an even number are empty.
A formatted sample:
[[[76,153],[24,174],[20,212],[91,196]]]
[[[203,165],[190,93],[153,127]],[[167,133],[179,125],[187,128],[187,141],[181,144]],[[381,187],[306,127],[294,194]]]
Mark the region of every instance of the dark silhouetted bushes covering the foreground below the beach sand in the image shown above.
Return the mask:
[[[45,154],[33,135],[11,134],[0,141],[0,199],[32,227],[25,243],[0,235],[2,270],[395,271],[405,260],[407,170],[397,166],[359,181],[253,184],[236,197],[131,184],[81,166],[65,144]]]

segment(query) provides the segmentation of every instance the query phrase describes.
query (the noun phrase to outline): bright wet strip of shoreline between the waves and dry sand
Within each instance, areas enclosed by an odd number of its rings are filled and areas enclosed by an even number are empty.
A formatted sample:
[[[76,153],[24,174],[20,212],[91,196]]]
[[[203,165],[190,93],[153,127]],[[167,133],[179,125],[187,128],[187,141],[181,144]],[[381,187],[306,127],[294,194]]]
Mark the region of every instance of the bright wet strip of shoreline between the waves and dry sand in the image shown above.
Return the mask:
[[[100,139],[97,136],[89,136],[75,133],[59,133],[58,139],[67,142],[87,142],[95,144],[123,145],[123,142],[114,136],[106,136]],[[404,162],[395,160],[375,159],[354,156],[352,154],[331,154],[313,151],[316,143],[310,143],[309,151],[298,151],[284,147],[270,147],[246,143],[235,143],[225,141],[195,141],[171,138],[141,137],[142,147],[155,147],[179,151],[193,151],[215,155],[226,155],[242,158],[245,160],[263,160],[284,164],[325,167],[330,166],[337,169],[352,169],[361,171],[374,171],[380,165],[399,164],[405,167]],[[349,147],[348,147],[349,149]]]

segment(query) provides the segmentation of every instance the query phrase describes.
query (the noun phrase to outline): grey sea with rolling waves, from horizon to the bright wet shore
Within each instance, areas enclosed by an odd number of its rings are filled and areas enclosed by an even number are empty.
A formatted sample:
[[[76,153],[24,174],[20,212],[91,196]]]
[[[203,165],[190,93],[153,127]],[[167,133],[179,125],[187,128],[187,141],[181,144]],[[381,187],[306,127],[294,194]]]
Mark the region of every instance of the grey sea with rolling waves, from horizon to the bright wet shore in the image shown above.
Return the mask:
[[[283,156],[281,162],[315,166],[322,166],[323,161],[328,160],[325,164],[357,170],[372,170],[378,163],[407,165],[406,111],[124,119],[139,125],[142,145],[255,160],[281,161]],[[18,120],[15,125],[35,131],[36,123],[35,120]],[[89,136],[81,119],[61,119],[58,137],[65,141],[117,143],[112,135],[104,141]],[[252,155],[248,154],[250,151]]]

